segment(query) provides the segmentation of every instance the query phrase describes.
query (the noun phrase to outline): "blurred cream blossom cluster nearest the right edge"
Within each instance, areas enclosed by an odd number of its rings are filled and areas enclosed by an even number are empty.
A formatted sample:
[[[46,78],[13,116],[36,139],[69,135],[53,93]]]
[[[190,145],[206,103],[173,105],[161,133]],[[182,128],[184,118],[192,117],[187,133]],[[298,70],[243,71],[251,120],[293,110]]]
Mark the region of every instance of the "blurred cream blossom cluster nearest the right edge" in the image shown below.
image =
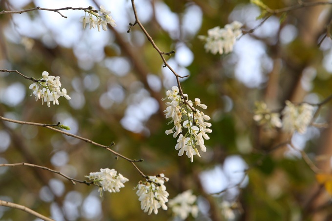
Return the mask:
[[[313,117],[313,106],[308,103],[295,105],[286,100],[286,106],[282,111],[283,130],[286,132],[298,131],[300,134],[306,132]]]

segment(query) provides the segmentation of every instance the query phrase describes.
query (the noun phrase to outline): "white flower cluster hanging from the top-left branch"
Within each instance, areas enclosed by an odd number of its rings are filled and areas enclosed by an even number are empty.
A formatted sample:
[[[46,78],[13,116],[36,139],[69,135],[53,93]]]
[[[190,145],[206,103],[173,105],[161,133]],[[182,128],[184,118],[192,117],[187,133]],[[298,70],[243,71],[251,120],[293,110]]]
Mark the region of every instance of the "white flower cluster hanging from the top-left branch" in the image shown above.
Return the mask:
[[[92,10],[86,10],[85,15],[81,18],[81,21],[83,22],[83,29],[85,29],[85,26],[87,23],[90,24],[91,28],[98,28],[98,31],[100,31],[100,26],[102,26],[104,31],[107,31],[107,24],[112,25],[113,27],[116,26],[115,20],[113,20],[110,11],[107,11],[103,5],[100,6],[99,13],[94,12]],[[88,15],[86,15],[86,13]]]

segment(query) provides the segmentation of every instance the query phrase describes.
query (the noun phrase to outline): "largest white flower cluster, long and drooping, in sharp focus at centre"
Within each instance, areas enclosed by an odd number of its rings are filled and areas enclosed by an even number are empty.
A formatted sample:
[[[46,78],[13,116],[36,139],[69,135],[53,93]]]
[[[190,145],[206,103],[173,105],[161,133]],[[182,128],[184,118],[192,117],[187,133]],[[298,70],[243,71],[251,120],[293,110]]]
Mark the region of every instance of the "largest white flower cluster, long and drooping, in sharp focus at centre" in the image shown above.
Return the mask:
[[[191,107],[195,104],[203,109],[207,109],[207,105],[202,104],[201,100],[196,98],[194,102],[187,100],[187,103],[190,105],[189,107],[179,94],[177,86],[173,86],[172,90],[167,91],[166,96],[165,100],[169,99],[171,102],[166,102],[167,108],[164,113],[166,114],[166,118],[172,118],[169,123],[173,122],[174,126],[172,129],[166,130],[165,133],[167,135],[174,133],[174,138],[180,134],[175,149],[179,150],[179,156],[182,156],[186,151],[187,157],[192,162],[194,155],[201,157],[196,146],[199,146],[203,152],[207,151],[204,139],[210,139],[206,133],[211,133],[212,130],[208,128],[211,127],[211,123],[205,122],[210,120],[210,117],[197,109],[193,112]],[[187,94],[184,96],[188,97]],[[182,134],[183,128],[186,131],[185,135]]]

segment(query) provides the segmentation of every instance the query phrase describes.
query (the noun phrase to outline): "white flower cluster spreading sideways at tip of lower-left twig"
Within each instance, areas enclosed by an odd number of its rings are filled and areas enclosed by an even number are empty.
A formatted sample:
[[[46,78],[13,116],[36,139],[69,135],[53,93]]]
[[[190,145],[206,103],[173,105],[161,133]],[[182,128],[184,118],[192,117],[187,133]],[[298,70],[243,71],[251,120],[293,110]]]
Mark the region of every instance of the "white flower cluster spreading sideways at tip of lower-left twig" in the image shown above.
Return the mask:
[[[125,187],[124,183],[129,181],[120,173],[117,175],[117,171],[115,169],[108,168],[100,169],[100,172],[93,172],[90,173],[89,176],[85,177],[100,184],[98,192],[100,192],[101,197],[103,196],[102,190],[110,193],[120,192],[120,188]]]

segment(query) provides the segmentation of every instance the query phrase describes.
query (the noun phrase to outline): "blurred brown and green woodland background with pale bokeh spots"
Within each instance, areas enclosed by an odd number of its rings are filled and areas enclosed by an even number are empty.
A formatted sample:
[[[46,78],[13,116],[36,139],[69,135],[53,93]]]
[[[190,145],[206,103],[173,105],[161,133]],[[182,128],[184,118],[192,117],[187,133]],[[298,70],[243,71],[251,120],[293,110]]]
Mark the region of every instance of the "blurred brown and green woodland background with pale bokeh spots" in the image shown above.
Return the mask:
[[[266,0],[272,9],[296,0]],[[332,87],[331,5],[304,7],[287,17],[271,16],[241,37],[228,55],[206,53],[197,36],[231,21],[250,30],[260,9],[248,0],[137,0],[138,17],[167,62],[181,76],[189,99],[207,105],[213,132],[207,152],[190,163],[178,157],[176,140],[165,131],[166,90],[176,85],[157,51],[138,26],[129,0],[0,0],[0,11],[104,5],[117,26],[83,30],[83,11],[32,11],[0,15],[0,69],[28,77],[60,76],[71,100],[48,108],[31,95],[29,80],[0,72],[0,116],[20,121],[68,125],[70,133],[109,145],[137,163],[146,175],[164,173],[169,199],[192,189],[198,217],[187,220],[297,221],[332,219],[331,196],[298,151],[276,145],[287,136],[252,120],[254,102],[280,110],[285,100],[318,103]],[[281,20],[281,17],[283,19]],[[319,44],[319,45],[318,45]],[[317,122],[331,121],[326,103]],[[331,171],[332,131],[309,127],[291,137],[325,173]],[[273,150],[273,151],[272,151]],[[110,152],[45,128],[0,122],[0,163],[29,162],[84,180],[100,168],[114,168],[129,179],[120,193],[70,181],[29,167],[0,167],[0,199],[25,205],[57,221],[177,221],[170,210],[148,216],[133,188],[143,178]],[[249,170],[247,171],[247,169]],[[229,206],[225,206],[229,204]],[[231,214],[231,215],[229,215]],[[232,216],[234,215],[234,216]],[[35,220],[0,207],[0,220]]]

